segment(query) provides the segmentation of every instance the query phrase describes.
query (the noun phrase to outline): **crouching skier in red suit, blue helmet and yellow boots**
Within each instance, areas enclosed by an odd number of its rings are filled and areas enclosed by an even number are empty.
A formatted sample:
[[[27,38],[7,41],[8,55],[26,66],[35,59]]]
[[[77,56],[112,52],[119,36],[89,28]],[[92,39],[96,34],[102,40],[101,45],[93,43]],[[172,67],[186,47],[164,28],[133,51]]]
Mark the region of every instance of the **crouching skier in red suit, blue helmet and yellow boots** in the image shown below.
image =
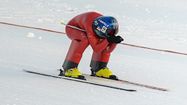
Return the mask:
[[[72,28],[75,26],[85,31]],[[64,72],[59,75],[84,79],[78,69],[82,54],[88,45],[93,49],[90,63],[92,76],[117,79],[107,68],[111,52],[123,41],[118,33],[118,22],[112,16],[103,16],[97,12],[86,12],[75,16],[66,25],[66,34],[72,40],[69,51],[63,63]]]

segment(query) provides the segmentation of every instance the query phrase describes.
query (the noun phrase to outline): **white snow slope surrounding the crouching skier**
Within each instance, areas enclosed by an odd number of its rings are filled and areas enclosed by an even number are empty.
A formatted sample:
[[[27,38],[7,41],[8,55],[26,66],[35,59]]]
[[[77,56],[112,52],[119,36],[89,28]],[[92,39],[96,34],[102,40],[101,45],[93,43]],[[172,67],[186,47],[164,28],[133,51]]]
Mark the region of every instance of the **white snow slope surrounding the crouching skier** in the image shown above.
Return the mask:
[[[107,3],[106,3],[107,2]],[[64,31],[86,11],[115,16],[127,43],[187,52],[185,0],[0,0],[0,21]],[[187,56],[119,45],[109,67],[122,79],[169,89],[132,85],[122,92],[26,74],[23,68],[57,74],[70,40],[61,34],[0,24],[0,105],[186,105]],[[80,70],[90,73],[89,47]],[[116,66],[117,65],[117,66]]]

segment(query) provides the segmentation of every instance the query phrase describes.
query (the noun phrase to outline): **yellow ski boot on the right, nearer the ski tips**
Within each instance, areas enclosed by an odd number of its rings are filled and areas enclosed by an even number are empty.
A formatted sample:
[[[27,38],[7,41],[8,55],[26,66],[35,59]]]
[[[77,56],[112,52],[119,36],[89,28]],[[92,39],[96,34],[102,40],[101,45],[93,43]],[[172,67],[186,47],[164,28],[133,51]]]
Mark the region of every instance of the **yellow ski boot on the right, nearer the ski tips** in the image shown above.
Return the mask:
[[[113,75],[112,71],[109,68],[107,68],[107,67],[102,68],[99,71],[97,71],[95,73],[95,76],[103,77],[103,78],[107,78],[107,79],[118,80],[118,78],[115,75]]]

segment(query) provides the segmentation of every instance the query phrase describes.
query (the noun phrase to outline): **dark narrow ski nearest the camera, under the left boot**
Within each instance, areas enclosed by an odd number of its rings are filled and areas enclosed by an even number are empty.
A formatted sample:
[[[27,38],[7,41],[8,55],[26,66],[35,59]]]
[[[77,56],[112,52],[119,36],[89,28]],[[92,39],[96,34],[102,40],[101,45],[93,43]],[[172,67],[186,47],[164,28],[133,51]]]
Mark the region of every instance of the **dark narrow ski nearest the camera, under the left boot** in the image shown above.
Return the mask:
[[[41,73],[41,72],[36,72],[36,71],[31,71],[31,70],[26,70],[26,69],[23,69],[23,71],[26,73],[30,73],[30,74],[46,76],[46,77],[51,77],[51,78],[58,78],[58,79],[63,79],[63,80],[69,80],[69,81],[74,81],[74,82],[80,82],[80,83],[84,83],[84,84],[90,84],[90,85],[95,85],[95,86],[100,86],[100,87],[105,87],[105,88],[110,88],[110,89],[116,89],[116,90],[121,90],[121,91],[127,91],[127,92],[136,92],[137,91],[135,89],[126,89],[126,88],[121,88],[121,87],[116,87],[116,86],[95,83],[95,82],[91,82],[91,81],[87,81],[87,80],[69,78],[69,77],[65,77],[65,76],[56,76],[56,75],[52,75],[52,74]]]

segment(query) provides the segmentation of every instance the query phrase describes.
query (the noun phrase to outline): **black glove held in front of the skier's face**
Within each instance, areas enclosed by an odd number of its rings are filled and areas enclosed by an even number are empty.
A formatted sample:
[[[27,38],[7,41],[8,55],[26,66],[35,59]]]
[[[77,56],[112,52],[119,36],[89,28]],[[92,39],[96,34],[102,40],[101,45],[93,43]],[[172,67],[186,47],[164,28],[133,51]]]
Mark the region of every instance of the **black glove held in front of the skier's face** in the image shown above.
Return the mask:
[[[124,39],[121,36],[109,36],[107,37],[109,43],[121,43]]]

